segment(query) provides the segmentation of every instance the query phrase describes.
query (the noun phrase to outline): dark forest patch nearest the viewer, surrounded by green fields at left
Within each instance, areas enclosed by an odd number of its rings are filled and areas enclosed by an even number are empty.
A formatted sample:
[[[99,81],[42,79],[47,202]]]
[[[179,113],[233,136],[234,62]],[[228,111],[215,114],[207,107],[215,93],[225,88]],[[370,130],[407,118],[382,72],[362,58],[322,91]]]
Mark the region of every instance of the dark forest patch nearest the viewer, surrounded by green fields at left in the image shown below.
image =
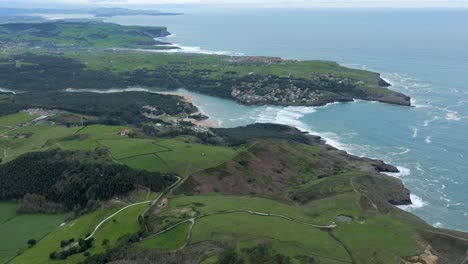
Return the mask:
[[[175,181],[172,175],[103,162],[104,155],[58,150],[24,154],[0,165],[0,200],[32,199],[35,194],[71,210],[128,194],[136,186],[162,191]]]

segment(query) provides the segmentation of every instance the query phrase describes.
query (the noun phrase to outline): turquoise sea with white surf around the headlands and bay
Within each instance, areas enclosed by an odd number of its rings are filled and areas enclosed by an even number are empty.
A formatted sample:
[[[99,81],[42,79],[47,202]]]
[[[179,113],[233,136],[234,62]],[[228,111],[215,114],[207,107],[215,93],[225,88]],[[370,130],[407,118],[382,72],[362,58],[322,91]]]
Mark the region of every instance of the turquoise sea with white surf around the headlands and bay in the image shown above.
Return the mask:
[[[326,59],[381,72],[416,107],[247,107],[204,95],[194,102],[220,126],[289,124],[397,165],[395,176],[413,193],[406,210],[468,231],[468,10],[196,10],[108,21],[167,26],[167,40],[182,51]]]

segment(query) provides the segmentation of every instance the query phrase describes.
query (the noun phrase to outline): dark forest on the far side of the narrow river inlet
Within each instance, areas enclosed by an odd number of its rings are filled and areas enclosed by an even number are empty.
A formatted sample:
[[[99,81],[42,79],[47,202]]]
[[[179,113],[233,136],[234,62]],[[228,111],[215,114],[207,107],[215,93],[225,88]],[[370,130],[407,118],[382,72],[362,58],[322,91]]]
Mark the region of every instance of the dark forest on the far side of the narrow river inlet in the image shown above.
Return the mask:
[[[66,88],[110,89],[158,87],[175,89],[169,69],[144,69],[113,74],[106,70],[90,70],[86,65],[61,56],[18,54],[0,58],[0,87],[23,91],[49,91]]]

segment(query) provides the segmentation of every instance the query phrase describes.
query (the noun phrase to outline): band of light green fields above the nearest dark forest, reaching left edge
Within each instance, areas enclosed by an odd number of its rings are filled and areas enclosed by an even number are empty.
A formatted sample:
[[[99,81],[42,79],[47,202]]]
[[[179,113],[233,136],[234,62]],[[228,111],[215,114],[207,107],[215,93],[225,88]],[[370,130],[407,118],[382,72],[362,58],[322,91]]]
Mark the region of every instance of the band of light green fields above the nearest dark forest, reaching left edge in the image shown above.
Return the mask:
[[[6,116],[9,120],[15,117]],[[44,123],[8,132],[9,138],[0,139],[0,158],[9,161],[31,151],[50,148],[64,150],[94,150],[107,148],[114,159],[137,169],[154,172],[176,172],[186,176],[196,170],[217,166],[238,154],[229,147],[202,145],[188,138],[134,139],[119,135],[125,126],[91,125],[64,127]],[[15,135],[32,133],[29,138]],[[66,139],[73,134],[86,135],[83,139]],[[5,155],[6,154],[6,155]]]

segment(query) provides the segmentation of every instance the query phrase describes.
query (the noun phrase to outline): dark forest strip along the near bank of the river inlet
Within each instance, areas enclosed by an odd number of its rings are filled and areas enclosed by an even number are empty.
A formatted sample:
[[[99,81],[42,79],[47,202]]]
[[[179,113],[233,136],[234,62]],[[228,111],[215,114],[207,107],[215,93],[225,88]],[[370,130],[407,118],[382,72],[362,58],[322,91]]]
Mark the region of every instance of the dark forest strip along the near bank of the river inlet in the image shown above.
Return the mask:
[[[143,106],[154,107],[152,110]],[[197,109],[190,103],[171,95],[146,92],[27,92],[0,95],[0,116],[27,108],[59,109],[99,117],[104,124],[140,124],[147,121],[143,112],[154,115],[190,114]]]

